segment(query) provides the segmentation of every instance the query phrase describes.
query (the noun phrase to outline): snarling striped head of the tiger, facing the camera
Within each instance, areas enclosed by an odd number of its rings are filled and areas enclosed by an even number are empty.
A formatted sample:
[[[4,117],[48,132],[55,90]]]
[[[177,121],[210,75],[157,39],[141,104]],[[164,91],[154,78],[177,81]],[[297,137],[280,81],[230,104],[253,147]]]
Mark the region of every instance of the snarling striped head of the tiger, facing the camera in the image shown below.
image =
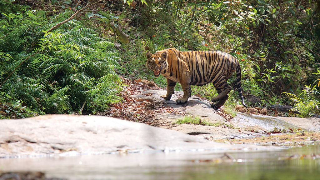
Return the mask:
[[[155,53],[151,54],[150,52],[146,53],[147,55],[147,67],[150,70],[153,70],[155,77],[159,77],[162,70],[168,69],[168,63],[167,63],[167,52],[162,53]],[[164,73],[164,72],[162,72]]]

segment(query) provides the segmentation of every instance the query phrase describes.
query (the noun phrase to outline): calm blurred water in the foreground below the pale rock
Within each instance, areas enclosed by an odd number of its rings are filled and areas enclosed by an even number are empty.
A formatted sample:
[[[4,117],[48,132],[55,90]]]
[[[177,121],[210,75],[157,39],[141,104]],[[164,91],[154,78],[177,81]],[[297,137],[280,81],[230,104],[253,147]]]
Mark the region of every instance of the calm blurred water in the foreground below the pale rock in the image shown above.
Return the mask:
[[[46,177],[152,180],[319,180],[320,145],[281,151],[153,152],[0,159],[1,171],[42,171]]]

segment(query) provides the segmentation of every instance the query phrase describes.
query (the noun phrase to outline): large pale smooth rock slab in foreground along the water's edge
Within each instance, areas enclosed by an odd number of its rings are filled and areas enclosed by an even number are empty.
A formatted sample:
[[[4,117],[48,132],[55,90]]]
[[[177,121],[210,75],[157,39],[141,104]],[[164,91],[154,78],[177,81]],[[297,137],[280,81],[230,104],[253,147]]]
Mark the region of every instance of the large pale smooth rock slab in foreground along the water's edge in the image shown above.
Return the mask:
[[[116,151],[273,150],[229,145],[174,130],[104,116],[46,115],[0,120],[0,158]]]

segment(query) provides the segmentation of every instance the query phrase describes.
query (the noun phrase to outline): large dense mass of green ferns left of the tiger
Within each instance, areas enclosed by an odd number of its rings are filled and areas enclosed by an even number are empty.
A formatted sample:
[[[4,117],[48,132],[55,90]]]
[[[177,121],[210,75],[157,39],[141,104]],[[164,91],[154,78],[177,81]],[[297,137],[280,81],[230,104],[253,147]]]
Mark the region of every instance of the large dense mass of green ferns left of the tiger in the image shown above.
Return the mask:
[[[44,11],[20,8],[0,20],[0,82],[3,102],[24,104],[38,113],[104,110],[121,102],[120,58],[113,43],[81,21],[58,29],[69,12],[47,19]]]

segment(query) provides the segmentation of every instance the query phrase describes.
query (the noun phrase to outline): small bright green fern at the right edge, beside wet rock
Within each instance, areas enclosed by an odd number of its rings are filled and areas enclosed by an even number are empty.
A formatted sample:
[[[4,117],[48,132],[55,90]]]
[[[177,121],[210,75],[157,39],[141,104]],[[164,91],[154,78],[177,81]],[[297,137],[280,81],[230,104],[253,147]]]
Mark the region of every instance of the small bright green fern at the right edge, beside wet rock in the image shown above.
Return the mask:
[[[320,101],[314,95],[319,94],[315,86],[305,86],[302,93],[297,96],[292,93],[283,92],[293,103],[294,108],[291,111],[298,111],[298,117],[306,118],[311,116],[311,112],[319,113]]]

